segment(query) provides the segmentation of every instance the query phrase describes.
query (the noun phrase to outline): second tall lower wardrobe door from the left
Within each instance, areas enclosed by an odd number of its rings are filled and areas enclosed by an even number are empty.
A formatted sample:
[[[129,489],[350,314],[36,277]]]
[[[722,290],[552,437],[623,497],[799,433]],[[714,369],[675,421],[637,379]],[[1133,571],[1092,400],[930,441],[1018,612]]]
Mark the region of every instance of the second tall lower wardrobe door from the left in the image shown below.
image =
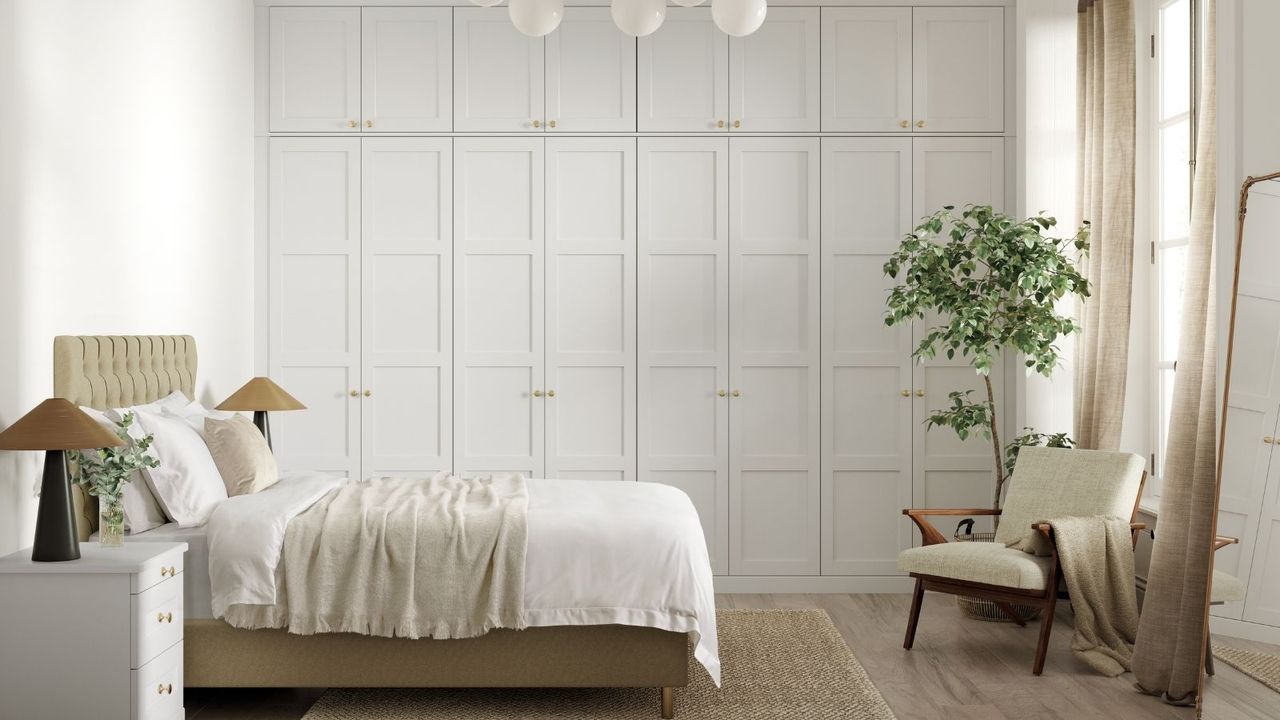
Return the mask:
[[[453,469],[452,146],[362,142],[365,478]]]

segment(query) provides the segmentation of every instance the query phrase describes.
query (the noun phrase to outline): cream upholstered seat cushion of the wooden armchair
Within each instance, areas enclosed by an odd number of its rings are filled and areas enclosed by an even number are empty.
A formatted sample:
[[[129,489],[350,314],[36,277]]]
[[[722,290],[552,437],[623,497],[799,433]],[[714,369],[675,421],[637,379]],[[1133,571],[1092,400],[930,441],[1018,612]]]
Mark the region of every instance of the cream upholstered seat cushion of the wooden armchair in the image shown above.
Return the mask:
[[[929,544],[905,550],[897,556],[897,569],[904,573],[1027,591],[1044,589],[1048,565],[1047,557],[995,542]]]

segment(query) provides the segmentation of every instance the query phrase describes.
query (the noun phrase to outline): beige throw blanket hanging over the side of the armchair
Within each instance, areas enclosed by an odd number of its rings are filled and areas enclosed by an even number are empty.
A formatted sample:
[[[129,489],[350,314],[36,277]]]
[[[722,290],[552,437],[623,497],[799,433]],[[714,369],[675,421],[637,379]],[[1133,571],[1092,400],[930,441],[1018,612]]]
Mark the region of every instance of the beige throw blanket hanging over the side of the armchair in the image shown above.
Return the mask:
[[[1129,521],[1093,516],[1048,523],[1075,612],[1071,652],[1098,673],[1116,676],[1129,669],[1138,634]]]

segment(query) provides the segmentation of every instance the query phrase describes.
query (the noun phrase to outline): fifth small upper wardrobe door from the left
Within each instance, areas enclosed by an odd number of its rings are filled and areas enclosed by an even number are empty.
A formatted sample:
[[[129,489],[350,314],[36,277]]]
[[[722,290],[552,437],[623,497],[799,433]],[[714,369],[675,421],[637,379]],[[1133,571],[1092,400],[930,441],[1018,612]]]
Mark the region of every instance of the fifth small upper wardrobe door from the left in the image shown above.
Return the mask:
[[[636,54],[640,132],[728,129],[728,36],[710,8],[667,8]]]

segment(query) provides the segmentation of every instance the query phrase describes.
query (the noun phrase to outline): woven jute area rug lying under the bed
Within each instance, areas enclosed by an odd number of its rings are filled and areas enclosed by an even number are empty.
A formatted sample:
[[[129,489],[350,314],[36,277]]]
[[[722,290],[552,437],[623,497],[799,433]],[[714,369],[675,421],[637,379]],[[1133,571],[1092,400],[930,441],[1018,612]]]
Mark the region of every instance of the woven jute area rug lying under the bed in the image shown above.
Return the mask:
[[[721,610],[723,687],[689,660],[677,720],[892,720],[822,610]],[[330,689],[303,720],[654,720],[654,688]]]

